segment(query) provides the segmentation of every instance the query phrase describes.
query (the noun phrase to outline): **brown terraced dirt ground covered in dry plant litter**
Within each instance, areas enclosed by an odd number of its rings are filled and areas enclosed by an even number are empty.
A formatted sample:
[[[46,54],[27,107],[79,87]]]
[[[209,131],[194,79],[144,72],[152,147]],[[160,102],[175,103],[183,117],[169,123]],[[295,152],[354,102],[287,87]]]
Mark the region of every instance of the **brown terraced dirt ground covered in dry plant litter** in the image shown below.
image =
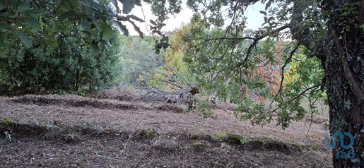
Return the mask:
[[[0,97],[0,167],[331,167],[324,121],[307,133],[309,119],[282,130],[122,97]]]

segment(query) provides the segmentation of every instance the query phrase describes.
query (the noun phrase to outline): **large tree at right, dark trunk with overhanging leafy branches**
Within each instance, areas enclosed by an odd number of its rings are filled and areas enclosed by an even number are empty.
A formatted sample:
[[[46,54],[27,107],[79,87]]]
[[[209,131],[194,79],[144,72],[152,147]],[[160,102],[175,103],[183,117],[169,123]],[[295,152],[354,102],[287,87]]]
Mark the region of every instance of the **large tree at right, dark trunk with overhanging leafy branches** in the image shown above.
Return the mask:
[[[190,45],[193,56],[198,56],[196,49],[206,47],[207,56],[218,52],[219,58],[233,58],[233,67],[223,69],[220,73],[229,75],[232,71],[247,69],[249,63],[257,56],[257,47],[261,41],[274,42],[290,37],[293,42],[285,47],[285,59],[281,66],[281,85],[274,100],[281,107],[277,109],[281,116],[282,126],[288,126],[292,119],[298,119],[303,109],[297,109],[303,96],[315,97],[327,92],[329,103],[330,133],[348,132],[355,137],[351,148],[343,149],[339,145],[333,149],[334,167],[363,167],[364,139],[364,2],[358,0],[322,0],[322,1],[260,1],[266,5],[262,28],[251,35],[243,35],[245,28],[244,10],[246,6],[256,4],[259,0],[249,1],[187,1],[189,8],[199,13],[204,20],[201,28],[204,30],[221,28],[225,33],[204,37],[191,37],[188,41],[199,41],[200,45]],[[161,6],[163,8],[163,6]],[[247,16],[248,17],[248,16]],[[224,20],[229,20],[224,27]],[[193,31],[192,31],[193,32]],[[192,33],[193,34],[193,33]],[[238,41],[250,43],[245,49],[236,51]],[[223,45],[225,51],[219,45]],[[324,76],[311,80],[310,88],[296,87],[293,92],[286,92],[284,85],[284,70],[300,50],[306,50],[308,58],[317,58],[324,70]],[[195,52],[195,53],[193,53]],[[238,55],[240,54],[240,57]],[[271,57],[274,59],[274,57]],[[218,64],[216,64],[218,65]],[[206,67],[206,69],[209,69]],[[313,69],[316,69],[315,67]],[[307,73],[307,72],[305,72]],[[320,71],[311,73],[321,74]],[[234,75],[240,76],[236,73]],[[307,75],[306,75],[307,76]],[[307,78],[310,79],[310,78]],[[317,83],[319,81],[319,83]],[[295,92],[300,90],[300,92]],[[319,92],[319,94],[313,94]],[[283,103],[286,103],[283,104]],[[259,109],[259,108],[258,108]],[[255,121],[267,121],[270,117],[266,112],[252,115]],[[298,118],[291,117],[298,115]],[[339,142],[336,138],[334,141]],[[344,142],[351,140],[346,137]],[[336,143],[339,144],[339,143]],[[353,158],[336,158],[336,152],[354,152]]]

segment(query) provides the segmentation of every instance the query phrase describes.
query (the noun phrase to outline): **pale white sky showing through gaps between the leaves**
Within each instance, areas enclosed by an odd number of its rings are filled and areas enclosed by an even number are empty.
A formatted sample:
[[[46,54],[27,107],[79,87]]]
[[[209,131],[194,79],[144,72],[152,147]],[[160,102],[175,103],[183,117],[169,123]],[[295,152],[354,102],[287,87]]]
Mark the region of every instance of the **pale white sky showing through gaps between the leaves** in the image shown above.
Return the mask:
[[[264,4],[257,3],[247,8],[247,10],[245,11],[245,16],[247,16],[248,29],[257,30],[262,26],[262,24],[264,23],[264,15],[262,13],[259,13],[259,11],[264,11],[264,7],[265,7]],[[148,24],[151,25],[151,23],[149,23],[149,20],[156,20],[157,18],[153,16],[153,14],[151,13],[151,5],[142,2],[142,8],[144,11],[144,15],[146,16],[145,20],[147,25]],[[139,6],[135,6],[131,10],[131,13],[129,14],[144,19],[141,7]],[[175,16],[170,16],[170,18],[164,22],[166,26],[163,27],[162,31],[170,31],[180,28],[182,26],[182,23],[189,23],[189,20],[191,19],[192,15],[193,12],[189,10],[187,6],[182,4],[182,11]],[[144,35],[151,35],[146,29],[145,23],[139,23],[136,21],[134,23],[136,23],[136,25],[138,25],[139,28],[141,28],[141,31],[144,32]],[[134,30],[133,26],[130,23],[126,23],[126,25],[130,35],[139,35],[138,32]]]

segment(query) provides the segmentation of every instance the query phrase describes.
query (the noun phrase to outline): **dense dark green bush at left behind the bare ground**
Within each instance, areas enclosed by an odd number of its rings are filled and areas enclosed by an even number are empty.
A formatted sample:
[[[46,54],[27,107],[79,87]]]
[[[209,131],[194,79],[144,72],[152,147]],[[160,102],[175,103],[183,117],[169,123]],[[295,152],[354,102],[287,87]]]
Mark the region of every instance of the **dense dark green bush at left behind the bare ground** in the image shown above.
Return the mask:
[[[0,34],[5,37],[0,47],[0,85],[64,90],[87,85],[94,90],[112,84],[117,76],[118,32],[104,20],[99,33],[97,26],[86,24],[82,17],[70,16],[74,11],[64,11],[67,3],[6,4],[2,12],[13,15],[0,16]]]

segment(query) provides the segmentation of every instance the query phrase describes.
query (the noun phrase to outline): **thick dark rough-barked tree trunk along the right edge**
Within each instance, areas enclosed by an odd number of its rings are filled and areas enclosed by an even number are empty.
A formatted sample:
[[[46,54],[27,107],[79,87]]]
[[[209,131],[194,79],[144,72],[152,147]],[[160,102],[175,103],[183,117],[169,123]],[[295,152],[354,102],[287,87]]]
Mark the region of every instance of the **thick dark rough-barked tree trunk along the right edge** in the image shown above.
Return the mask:
[[[349,9],[346,9],[349,8]],[[326,87],[330,133],[351,133],[345,149],[339,138],[332,156],[334,167],[364,167],[364,2],[325,1],[329,34],[334,44],[327,51]],[[351,138],[344,134],[344,144]],[[334,143],[333,143],[334,144]]]

